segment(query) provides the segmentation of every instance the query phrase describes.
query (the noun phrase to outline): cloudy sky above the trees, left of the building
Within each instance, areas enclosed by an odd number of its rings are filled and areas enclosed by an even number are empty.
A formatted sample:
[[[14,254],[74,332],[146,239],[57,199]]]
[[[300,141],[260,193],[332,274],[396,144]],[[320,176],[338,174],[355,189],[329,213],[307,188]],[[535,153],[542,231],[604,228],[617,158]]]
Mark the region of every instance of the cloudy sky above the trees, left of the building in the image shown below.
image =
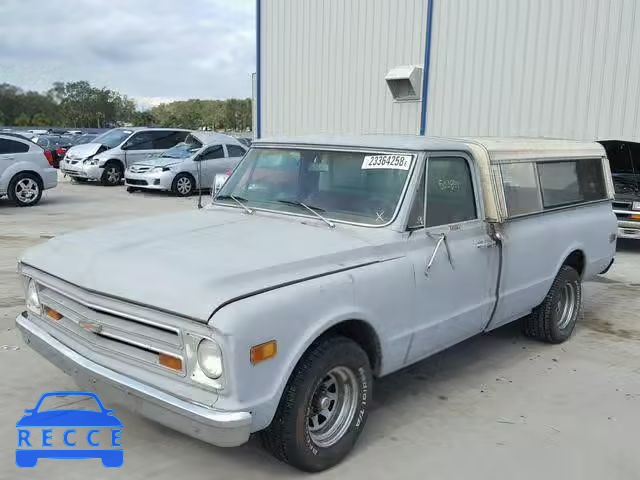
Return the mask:
[[[251,96],[255,0],[0,0],[0,83],[88,80],[148,108]]]

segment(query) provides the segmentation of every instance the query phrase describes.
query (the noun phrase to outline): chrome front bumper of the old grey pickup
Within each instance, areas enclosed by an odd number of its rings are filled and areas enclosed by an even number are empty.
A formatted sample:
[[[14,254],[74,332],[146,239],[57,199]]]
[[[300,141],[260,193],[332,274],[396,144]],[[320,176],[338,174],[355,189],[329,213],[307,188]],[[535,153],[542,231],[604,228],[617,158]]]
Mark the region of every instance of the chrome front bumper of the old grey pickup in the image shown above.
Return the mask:
[[[235,447],[249,439],[249,412],[225,412],[190,403],[98,365],[38,327],[26,312],[18,315],[16,325],[27,345],[72,376],[81,388],[95,392],[106,405],[122,405],[143,417],[219,447]]]

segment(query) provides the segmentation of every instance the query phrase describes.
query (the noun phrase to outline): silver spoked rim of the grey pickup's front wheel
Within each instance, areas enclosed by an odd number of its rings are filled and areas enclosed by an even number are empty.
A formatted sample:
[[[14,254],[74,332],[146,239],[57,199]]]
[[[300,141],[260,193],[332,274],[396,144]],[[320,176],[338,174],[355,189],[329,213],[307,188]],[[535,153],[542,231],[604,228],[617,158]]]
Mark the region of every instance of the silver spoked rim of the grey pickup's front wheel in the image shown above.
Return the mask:
[[[331,447],[347,433],[356,414],[358,390],[358,380],[347,367],[335,367],[322,378],[306,418],[309,436],[317,446]]]

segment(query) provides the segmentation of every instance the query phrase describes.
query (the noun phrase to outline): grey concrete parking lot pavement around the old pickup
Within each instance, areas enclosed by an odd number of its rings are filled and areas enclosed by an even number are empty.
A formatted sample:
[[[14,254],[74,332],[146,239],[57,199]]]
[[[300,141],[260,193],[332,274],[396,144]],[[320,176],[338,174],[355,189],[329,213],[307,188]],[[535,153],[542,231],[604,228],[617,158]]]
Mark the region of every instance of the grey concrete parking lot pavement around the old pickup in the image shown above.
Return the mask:
[[[301,478],[256,439],[219,449],[121,409],[124,466],[99,460],[14,464],[15,423],[70,379],[25,347],[16,257],[77,229],[195,208],[195,199],[62,182],[42,204],[0,200],[0,478]],[[90,246],[88,246],[90,248]],[[379,380],[354,453],[315,478],[634,479],[640,472],[640,245],[621,242],[606,276],[585,285],[585,315],[567,343],[523,338],[515,325],[478,336]]]

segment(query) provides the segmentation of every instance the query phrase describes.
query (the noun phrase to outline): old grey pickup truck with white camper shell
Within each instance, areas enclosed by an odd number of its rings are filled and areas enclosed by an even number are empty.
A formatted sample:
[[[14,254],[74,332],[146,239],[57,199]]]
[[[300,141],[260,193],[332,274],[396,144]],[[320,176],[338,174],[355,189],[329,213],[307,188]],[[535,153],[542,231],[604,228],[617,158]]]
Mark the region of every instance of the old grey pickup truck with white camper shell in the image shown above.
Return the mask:
[[[319,471],[374,378],[518,319],[569,338],[613,262],[612,197],[597,143],[261,140],[204,210],[26,252],[17,325],[109,405]]]

